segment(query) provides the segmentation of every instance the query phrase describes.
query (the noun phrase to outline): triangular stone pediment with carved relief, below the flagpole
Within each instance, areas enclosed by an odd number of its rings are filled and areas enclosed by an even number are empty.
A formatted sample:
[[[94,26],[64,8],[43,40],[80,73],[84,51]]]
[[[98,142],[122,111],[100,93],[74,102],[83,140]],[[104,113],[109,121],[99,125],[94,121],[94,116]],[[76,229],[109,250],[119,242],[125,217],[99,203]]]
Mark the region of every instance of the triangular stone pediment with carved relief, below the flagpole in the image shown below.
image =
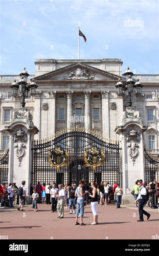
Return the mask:
[[[49,73],[37,76],[35,81],[96,81],[96,80],[108,80],[117,81],[118,78],[125,80],[123,77],[112,74],[110,72],[94,68],[92,66],[75,63],[69,66],[51,71]]]

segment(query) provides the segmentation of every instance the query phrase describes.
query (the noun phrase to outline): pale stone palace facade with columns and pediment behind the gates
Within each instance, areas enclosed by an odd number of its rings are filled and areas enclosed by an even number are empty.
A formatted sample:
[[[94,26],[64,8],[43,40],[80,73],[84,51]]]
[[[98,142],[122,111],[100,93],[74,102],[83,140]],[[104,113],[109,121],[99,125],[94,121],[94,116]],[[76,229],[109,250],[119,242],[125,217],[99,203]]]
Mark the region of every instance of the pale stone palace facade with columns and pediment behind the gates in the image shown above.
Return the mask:
[[[90,131],[109,142],[118,141],[115,128],[121,123],[128,99],[118,95],[116,84],[125,84],[121,59],[55,60],[39,59],[35,62],[35,74],[28,77],[36,82],[35,97],[25,99],[39,133],[35,140],[49,140],[54,134],[71,129]],[[128,63],[127,63],[128,64]],[[134,67],[130,67],[133,71]],[[29,73],[29,67],[26,67]],[[20,70],[21,71],[21,70]],[[143,144],[148,153],[159,159],[159,75],[133,74],[142,84],[142,94],[131,93],[132,107],[140,112],[145,126]],[[5,129],[13,113],[18,111],[22,97],[12,96],[11,84],[20,76],[0,76],[0,150],[1,156],[9,147],[9,132]],[[118,80],[119,79],[119,80]],[[29,83],[29,81],[28,81]],[[82,142],[81,142],[82,143]],[[78,145],[81,146],[81,145]],[[79,164],[79,162],[78,162]],[[112,178],[115,179],[116,177]],[[102,178],[101,178],[102,179]],[[107,181],[107,180],[105,180]],[[135,181],[134,181],[135,182]]]

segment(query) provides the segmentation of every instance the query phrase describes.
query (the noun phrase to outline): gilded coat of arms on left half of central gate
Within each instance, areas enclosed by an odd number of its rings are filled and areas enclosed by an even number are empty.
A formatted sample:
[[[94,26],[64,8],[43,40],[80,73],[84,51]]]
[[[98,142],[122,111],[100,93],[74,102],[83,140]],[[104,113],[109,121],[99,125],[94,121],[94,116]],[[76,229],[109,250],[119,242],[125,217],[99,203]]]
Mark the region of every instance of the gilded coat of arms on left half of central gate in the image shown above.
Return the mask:
[[[56,167],[60,170],[61,167],[67,166],[69,160],[69,153],[67,150],[61,148],[61,146],[56,147],[52,151],[49,151],[49,162],[52,167]]]

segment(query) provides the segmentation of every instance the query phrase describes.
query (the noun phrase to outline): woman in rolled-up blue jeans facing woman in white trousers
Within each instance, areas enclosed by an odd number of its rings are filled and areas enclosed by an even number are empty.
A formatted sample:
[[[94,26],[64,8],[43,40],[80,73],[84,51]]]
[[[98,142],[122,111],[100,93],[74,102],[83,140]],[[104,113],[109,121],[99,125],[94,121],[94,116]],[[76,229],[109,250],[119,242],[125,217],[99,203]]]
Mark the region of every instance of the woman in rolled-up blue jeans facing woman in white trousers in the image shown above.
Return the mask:
[[[84,216],[84,205],[85,205],[85,195],[88,193],[86,190],[85,193],[83,193],[83,186],[85,182],[81,180],[79,182],[79,186],[76,188],[75,196],[77,196],[77,212],[75,215],[75,225],[81,225],[85,226],[86,224],[83,223],[83,216]],[[81,216],[81,222],[78,222],[78,214],[80,213]]]

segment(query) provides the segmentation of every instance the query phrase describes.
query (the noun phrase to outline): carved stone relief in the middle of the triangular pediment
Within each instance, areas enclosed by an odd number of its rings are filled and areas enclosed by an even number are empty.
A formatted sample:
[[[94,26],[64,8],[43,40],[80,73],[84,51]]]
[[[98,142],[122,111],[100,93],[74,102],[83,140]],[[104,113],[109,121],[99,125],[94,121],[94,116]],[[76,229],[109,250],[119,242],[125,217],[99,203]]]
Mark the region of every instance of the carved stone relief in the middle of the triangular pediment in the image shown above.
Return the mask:
[[[76,70],[71,70],[67,73],[67,76],[64,76],[66,79],[76,80],[76,79],[93,79],[94,76],[91,75],[90,71],[86,68],[82,70],[77,68]]]

